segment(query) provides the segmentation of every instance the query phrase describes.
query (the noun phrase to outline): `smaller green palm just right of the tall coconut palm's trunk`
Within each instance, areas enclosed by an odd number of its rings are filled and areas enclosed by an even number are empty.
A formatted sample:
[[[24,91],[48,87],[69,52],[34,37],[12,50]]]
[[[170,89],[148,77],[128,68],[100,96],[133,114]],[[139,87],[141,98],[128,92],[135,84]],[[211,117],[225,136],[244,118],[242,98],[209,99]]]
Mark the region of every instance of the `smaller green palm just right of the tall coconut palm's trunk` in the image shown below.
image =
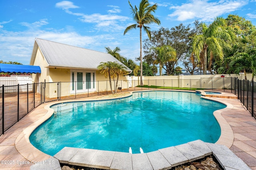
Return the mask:
[[[156,51],[156,61],[154,64],[159,64],[159,73],[162,76],[162,68],[169,61],[176,61],[176,51],[170,45],[154,48]]]

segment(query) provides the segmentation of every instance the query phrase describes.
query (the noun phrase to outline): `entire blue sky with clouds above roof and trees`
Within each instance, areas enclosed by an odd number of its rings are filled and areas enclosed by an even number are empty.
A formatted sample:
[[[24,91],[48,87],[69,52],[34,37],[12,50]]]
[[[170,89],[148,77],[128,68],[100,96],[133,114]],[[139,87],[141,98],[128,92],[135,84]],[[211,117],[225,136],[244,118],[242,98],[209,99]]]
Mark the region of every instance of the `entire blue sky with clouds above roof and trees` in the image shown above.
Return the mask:
[[[256,25],[256,0],[154,0],[160,27],[210,23],[216,16],[236,14]],[[140,0],[130,0],[139,6]],[[134,24],[128,0],[0,0],[0,60],[29,64],[35,38],[106,52],[120,47],[128,59],[139,57],[139,29],[124,35]],[[143,39],[147,38],[143,33]]]

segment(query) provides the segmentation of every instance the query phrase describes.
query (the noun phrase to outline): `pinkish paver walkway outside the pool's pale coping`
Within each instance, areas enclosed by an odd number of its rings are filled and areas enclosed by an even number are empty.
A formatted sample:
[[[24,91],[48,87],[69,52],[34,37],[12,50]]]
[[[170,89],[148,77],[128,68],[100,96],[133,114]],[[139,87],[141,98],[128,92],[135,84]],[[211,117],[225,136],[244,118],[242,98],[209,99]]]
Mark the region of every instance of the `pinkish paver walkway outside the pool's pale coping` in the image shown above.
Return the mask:
[[[230,94],[232,95],[232,94]],[[85,98],[84,100],[91,100],[99,98],[99,96]],[[234,132],[234,142],[230,147],[238,157],[240,157],[252,170],[256,170],[256,121],[250,115],[248,111],[240,104],[237,99],[227,98],[213,98],[220,102],[228,102],[232,104],[231,111],[222,112],[222,116],[229,123]],[[69,100],[70,101],[70,100]],[[64,102],[64,101],[62,101]],[[18,136],[24,133],[26,127],[32,125],[35,121],[40,119],[47,113],[44,106],[49,103],[42,104],[36,109],[32,110],[28,115],[23,117],[18,123],[8,129],[4,135],[0,137],[0,169],[3,170],[28,170],[32,163],[28,161],[18,150],[16,145],[22,146],[18,142]],[[26,149],[26,145],[23,145],[23,151],[34,157],[34,161],[47,159],[45,154],[39,151],[33,152]],[[50,157],[50,156],[48,156]]]

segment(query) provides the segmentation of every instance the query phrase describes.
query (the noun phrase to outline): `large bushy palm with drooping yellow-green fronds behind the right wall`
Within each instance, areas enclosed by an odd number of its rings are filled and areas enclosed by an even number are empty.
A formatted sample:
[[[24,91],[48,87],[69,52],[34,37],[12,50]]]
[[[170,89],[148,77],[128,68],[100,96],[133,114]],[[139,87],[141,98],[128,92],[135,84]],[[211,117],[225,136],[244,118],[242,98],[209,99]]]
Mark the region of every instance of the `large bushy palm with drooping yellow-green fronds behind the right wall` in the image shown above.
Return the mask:
[[[234,33],[224,29],[226,22],[223,18],[216,18],[212,24],[207,27],[205,23],[202,23],[202,34],[193,37],[192,48],[196,57],[200,59],[200,53],[203,55],[203,74],[206,74],[207,70],[207,55],[210,55],[210,63],[212,64],[213,57],[218,57],[220,60],[224,58],[223,49],[230,49],[231,41],[234,37]],[[210,68],[209,68],[210,69]]]

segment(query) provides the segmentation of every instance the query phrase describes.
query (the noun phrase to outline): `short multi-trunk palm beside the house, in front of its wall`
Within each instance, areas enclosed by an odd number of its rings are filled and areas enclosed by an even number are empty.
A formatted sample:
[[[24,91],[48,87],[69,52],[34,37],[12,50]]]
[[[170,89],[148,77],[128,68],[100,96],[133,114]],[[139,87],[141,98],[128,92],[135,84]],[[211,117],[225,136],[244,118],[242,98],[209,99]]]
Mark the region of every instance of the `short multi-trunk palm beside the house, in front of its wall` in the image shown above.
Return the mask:
[[[102,74],[102,75],[104,74],[105,78],[107,78],[107,77],[109,78],[110,89],[111,89],[112,94],[114,94],[114,92],[112,90],[111,78],[113,78],[113,80],[115,80],[114,78],[117,77],[116,91],[115,91],[115,93],[116,93],[119,76],[127,73],[127,71],[125,70],[125,67],[122,64],[117,63],[116,61],[114,61],[114,62],[108,61],[106,63],[101,62],[100,65],[98,65],[98,69],[99,69],[100,74]]]

